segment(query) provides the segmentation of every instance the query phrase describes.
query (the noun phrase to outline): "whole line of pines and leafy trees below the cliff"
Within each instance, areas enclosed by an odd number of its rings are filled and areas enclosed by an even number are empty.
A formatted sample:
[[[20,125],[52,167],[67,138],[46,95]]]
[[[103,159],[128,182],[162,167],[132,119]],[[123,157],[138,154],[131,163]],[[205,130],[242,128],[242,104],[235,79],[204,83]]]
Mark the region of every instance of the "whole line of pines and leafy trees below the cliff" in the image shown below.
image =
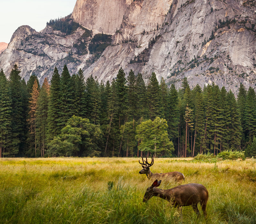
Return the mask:
[[[190,89],[186,77],[179,90],[154,72],[145,84],[122,68],[106,84],[66,65],[42,86],[19,74],[17,65],[9,79],[0,72],[0,157],[256,154],[252,87],[240,84],[236,99],[215,84]]]

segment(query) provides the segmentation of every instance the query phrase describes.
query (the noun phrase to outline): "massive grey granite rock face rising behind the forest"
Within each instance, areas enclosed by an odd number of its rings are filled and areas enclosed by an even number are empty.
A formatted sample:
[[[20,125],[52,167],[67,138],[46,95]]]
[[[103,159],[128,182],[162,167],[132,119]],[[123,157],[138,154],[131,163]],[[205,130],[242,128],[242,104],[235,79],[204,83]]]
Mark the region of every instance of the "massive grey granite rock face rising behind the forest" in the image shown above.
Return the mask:
[[[69,34],[54,24],[40,33],[18,28],[0,55],[5,74],[16,63],[25,80],[36,74],[42,82],[66,63],[71,74],[82,68],[104,82],[122,67],[145,80],[154,71],[176,87],[184,76],[191,87],[255,87],[252,0],[77,0],[65,21],[80,26]]]

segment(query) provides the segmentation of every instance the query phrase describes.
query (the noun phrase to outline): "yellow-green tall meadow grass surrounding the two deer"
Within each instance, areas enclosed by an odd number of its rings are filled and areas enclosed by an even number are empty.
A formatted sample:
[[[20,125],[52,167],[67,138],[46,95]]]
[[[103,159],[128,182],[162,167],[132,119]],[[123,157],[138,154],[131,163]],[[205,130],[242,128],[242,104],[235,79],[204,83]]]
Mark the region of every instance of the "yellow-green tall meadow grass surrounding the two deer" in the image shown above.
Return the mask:
[[[142,202],[154,180],[138,158],[2,158],[0,223],[256,223],[256,160],[193,162],[156,158],[152,172],[180,171],[209,192],[207,220],[191,206]],[[177,186],[162,181],[159,188]],[[199,211],[202,212],[200,205]]]

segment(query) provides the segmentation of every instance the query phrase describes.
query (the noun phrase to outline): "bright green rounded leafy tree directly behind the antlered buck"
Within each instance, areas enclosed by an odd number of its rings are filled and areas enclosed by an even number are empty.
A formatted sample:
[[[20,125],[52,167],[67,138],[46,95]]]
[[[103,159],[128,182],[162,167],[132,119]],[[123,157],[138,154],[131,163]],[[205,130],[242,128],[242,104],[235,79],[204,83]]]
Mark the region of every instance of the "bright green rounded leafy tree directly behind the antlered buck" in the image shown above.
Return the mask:
[[[167,122],[163,118],[156,117],[154,121],[143,121],[137,126],[136,133],[141,151],[149,151],[154,156],[169,156],[174,150],[172,141],[168,138]]]

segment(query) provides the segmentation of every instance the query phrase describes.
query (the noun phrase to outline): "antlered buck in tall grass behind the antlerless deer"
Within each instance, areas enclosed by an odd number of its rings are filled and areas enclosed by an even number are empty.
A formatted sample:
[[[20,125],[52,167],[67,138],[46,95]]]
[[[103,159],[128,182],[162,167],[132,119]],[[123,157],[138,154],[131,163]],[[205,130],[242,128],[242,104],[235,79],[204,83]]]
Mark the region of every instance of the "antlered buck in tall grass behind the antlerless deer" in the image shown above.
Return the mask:
[[[144,162],[142,156],[141,156],[141,158],[142,158],[142,163],[140,163],[140,160],[139,160],[139,163],[142,165],[143,169],[139,173],[140,174],[145,173],[148,177],[148,180],[150,180],[150,179],[160,179],[160,178],[172,178],[173,180],[180,181],[180,182],[182,182],[182,180],[185,180],[185,177],[184,177],[183,173],[177,172],[177,171],[168,172],[168,173],[152,173],[149,170],[149,167],[154,164],[154,158],[151,156],[151,163],[150,164],[148,163],[147,156],[146,156],[146,161],[145,162]]]

